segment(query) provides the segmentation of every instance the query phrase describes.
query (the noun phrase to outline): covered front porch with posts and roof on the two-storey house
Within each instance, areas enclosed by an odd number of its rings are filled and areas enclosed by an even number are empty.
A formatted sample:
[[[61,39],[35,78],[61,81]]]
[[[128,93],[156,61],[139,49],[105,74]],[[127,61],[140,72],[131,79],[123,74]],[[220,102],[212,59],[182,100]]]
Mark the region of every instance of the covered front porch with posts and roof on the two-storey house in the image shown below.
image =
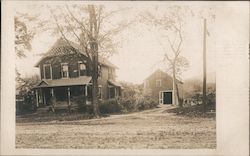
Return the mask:
[[[74,79],[42,80],[34,87],[36,107],[41,109],[67,109],[81,104],[90,104],[92,99],[91,78],[84,76]]]

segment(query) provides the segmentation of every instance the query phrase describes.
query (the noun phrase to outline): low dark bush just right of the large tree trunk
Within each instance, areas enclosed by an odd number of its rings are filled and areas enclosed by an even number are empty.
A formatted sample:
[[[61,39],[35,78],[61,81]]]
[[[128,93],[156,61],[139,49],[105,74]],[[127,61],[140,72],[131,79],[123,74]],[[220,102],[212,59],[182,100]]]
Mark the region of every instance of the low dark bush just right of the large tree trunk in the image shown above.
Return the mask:
[[[102,114],[119,113],[121,110],[122,106],[117,99],[100,101],[99,103],[99,111]]]

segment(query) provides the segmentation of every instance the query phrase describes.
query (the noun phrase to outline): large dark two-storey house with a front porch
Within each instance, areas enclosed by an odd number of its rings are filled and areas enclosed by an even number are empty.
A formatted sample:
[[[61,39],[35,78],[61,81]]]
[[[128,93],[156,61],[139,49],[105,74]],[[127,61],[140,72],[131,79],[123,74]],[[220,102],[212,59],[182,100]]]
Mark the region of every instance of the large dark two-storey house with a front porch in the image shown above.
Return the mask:
[[[40,70],[40,82],[34,87],[37,107],[58,103],[71,104],[74,97],[83,96],[90,103],[91,70],[86,53],[74,42],[62,38],[36,63]],[[117,67],[99,56],[98,98],[112,99],[121,95],[121,85],[115,81]]]

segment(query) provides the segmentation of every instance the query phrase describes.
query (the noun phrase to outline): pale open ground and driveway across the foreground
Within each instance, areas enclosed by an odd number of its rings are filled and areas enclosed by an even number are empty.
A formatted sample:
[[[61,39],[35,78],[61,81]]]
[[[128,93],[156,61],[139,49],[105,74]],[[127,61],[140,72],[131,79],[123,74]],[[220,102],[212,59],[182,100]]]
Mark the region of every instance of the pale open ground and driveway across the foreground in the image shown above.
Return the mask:
[[[100,119],[17,123],[16,148],[216,148],[215,118],[177,116],[160,106]]]

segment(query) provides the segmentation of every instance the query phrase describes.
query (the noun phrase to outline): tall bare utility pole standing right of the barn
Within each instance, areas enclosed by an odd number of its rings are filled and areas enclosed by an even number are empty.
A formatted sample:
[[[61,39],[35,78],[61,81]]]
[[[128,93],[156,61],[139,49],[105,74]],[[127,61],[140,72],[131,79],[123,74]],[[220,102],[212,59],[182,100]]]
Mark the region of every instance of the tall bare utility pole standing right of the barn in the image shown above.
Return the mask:
[[[203,94],[202,94],[202,104],[204,112],[206,112],[207,105],[207,95],[206,95],[206,84],[207,84],[207,62],[206,62],[206,39],[207,39],[207,20],[204,19],[204,31],[203,31]]]

